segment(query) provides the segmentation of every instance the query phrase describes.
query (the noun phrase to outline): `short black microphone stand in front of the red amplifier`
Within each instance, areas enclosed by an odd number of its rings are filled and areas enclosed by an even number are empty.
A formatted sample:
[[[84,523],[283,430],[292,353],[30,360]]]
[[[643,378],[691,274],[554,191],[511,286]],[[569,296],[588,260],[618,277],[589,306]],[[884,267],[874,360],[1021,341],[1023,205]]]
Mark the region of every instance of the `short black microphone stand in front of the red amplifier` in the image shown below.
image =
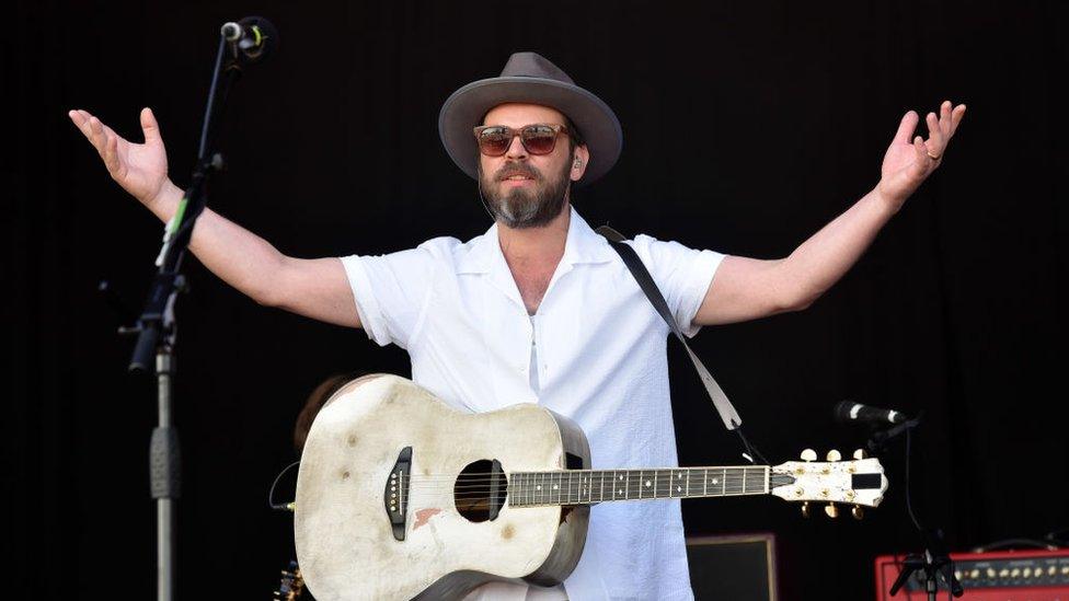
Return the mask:
[[[867,448],[872,454],[880,454],[884,451],[888,441],[903,434],[906,435],[906,508],[909,511],[910,519],[913,521],[913,525],[917,527],[920,533],[921,541],[924,544],[924,552],[922,554],[913,553],[906,556],[906,560],[903,562],[898,573],[898,578],[890,586],[889,593],[890,597],[894,597],[906,585],[910,576],[915,573],[923,573],[924,591],[928,594],[929,601],[935,601],[935,596],[939,592],[940,577],[942,577],[943,582],[950,589],[950,594],[954,597],[965,594],[965,588],[962,587],[962,582],[954,576],[954,562],[951,559],[950,553],[946,552],[946,546],[943,543],[943,531],[922,528],[913,515],[909,494],[910,432],[920,425],[920,418],[921,416],[917,416],[886,430],[873,431],[869,439]]]

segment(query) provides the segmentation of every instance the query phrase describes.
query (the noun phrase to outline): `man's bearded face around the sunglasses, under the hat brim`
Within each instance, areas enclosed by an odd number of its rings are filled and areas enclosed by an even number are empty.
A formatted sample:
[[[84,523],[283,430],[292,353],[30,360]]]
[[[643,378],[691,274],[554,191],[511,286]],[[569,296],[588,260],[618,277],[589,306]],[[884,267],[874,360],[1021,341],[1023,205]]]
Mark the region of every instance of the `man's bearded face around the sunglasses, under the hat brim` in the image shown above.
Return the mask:
[[[532,124],[564,125],[565,120],[548,106],[502,104],[486,113],[482,125],[519,129]],[[573,169],[568,142],[561,134],[553,152],[536,155],[527,152],[517,136],[501,157],[479,153],[479,187],[494,219],[509,228],[537,228],[561,213],[572,174],[582,175],[582,170]]]

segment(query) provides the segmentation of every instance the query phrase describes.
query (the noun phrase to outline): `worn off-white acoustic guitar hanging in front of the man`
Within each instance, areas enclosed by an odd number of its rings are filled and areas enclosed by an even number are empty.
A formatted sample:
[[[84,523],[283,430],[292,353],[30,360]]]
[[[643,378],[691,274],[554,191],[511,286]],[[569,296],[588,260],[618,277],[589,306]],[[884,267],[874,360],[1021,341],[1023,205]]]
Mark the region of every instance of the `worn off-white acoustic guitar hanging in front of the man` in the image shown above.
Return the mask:
[[[350,382],[317,416],[301,458],[304,582],[321,600],[555,586],[578,563],[595,502],[771,493],[860,507],[887,487],[874,459],[591,471],[589,455],[574,423],[538,405],[465,414],[395,375]]]

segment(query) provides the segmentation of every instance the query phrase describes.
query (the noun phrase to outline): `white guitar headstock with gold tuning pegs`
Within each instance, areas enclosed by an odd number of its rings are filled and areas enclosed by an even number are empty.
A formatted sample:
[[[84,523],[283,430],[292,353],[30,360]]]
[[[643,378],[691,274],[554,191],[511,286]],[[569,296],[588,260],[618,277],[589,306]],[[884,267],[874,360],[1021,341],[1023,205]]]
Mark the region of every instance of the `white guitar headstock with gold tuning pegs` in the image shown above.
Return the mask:
[[[802,451],[802,461],[774,465],[770,474],[770,494],[789,501],[802,502],[802,515],[809,517],[811,502],[827,502],[824,511],[839,517],[839,506],[852,506],[850,513],[861,519],[864,507],[876,507],[884,500],[887,477],[876,458],[865,458],[858,449],[853,460],[842,461],[839,451],[828,451],[827,461],[816,461],[813,449]]]

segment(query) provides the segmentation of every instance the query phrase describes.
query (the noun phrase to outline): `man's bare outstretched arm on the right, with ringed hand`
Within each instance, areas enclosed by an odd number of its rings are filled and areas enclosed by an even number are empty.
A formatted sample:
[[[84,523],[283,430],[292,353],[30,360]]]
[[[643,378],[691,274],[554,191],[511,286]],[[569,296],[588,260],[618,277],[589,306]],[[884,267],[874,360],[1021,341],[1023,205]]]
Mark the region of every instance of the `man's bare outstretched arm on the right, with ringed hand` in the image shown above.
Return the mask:
[[[903,117],[884,154],[875,188],[795,249],[786,258],[728,256],[716,270],[694,323],[714,325],[798,311],[839,281],[876,238],[880,229],[943,161],[965,116],[950,101],[927,117],[929,137],[913,137],[919,117]]]

